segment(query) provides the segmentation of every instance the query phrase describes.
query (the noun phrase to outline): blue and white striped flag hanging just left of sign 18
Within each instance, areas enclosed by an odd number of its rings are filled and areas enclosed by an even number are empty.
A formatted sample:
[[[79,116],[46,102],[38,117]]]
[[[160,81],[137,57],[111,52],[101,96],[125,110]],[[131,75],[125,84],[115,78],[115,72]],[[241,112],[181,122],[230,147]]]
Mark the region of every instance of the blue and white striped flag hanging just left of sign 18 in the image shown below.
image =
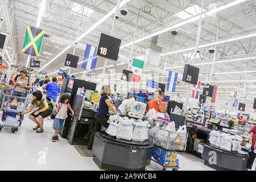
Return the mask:
[[[84,63],[82,63],[82,68],[94,70],[96,66],[96,61],[96,47],[86,44],[84,52]]]

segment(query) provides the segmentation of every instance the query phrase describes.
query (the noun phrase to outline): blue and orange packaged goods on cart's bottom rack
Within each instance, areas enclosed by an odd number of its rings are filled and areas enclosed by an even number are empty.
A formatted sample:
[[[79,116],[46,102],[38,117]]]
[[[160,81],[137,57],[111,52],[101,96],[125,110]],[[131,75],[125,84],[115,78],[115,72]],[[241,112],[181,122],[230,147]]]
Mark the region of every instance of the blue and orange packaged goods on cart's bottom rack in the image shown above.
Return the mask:
[[[176,151],[168,151],[155,146],[152,156],[162,166],[179,167]]]

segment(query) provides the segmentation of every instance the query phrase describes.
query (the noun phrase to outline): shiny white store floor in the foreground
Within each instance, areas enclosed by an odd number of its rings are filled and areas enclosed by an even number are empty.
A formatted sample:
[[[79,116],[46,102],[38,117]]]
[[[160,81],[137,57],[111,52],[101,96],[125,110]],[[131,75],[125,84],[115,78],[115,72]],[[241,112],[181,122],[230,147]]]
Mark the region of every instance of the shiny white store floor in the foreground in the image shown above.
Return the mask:
[[[9,127],[3,128],[0,132],[0,170],[100,170],[92,158],[81,156],[66,139],[59,137],[59,142],[52,142],[52,123],[52,119],[45,119],[44,132],[36,133],[32,130],[35,123],[25,115],[18,132],[11,133]],[[179,154],[177,158],[180,171],[213,170]],[[162,170],[162,167],[151,162],[146,170]]]

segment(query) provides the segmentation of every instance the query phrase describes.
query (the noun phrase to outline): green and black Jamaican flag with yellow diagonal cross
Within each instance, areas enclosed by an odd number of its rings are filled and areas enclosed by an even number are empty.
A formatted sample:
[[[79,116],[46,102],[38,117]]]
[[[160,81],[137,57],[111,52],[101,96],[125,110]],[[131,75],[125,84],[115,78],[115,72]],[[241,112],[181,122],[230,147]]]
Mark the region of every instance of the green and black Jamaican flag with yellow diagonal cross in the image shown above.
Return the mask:
[[[22,52],[27,55],[39,56],[44,30],[27,25],[26,38],[23,44]]]

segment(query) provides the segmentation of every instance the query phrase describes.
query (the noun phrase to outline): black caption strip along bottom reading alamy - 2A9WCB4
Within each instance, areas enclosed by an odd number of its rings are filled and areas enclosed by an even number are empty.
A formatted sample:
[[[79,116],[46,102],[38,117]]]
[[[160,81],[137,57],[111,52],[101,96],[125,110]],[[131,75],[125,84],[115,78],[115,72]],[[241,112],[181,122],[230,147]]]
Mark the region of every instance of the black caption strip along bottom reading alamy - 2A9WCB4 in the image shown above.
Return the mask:
[[[193,168],[191,166],[191,168]],[[15,179],[26,181],[35,181],[35,179],[44,177],[44,179],[53,179],[57,176],[58,181],[67,181],[68,178],[73,181],[191,181],[193,177],[210,177],[212,180],[220,180],[220,177],[227,176],[227,180],[236,180],[237,176],[245,175],[253,179],[254,172],[249,171],[0,171],[1,179]],[[11,177],[13,176],[13,177]],[[16,176],[16,177],[14,177]],[[29,177],[28,177],[29,176]],[[251,177],[251,178],[250,178]],[[223,179],[223,178],[222,178]],[[39,180],[41,181],[41,180]]]

